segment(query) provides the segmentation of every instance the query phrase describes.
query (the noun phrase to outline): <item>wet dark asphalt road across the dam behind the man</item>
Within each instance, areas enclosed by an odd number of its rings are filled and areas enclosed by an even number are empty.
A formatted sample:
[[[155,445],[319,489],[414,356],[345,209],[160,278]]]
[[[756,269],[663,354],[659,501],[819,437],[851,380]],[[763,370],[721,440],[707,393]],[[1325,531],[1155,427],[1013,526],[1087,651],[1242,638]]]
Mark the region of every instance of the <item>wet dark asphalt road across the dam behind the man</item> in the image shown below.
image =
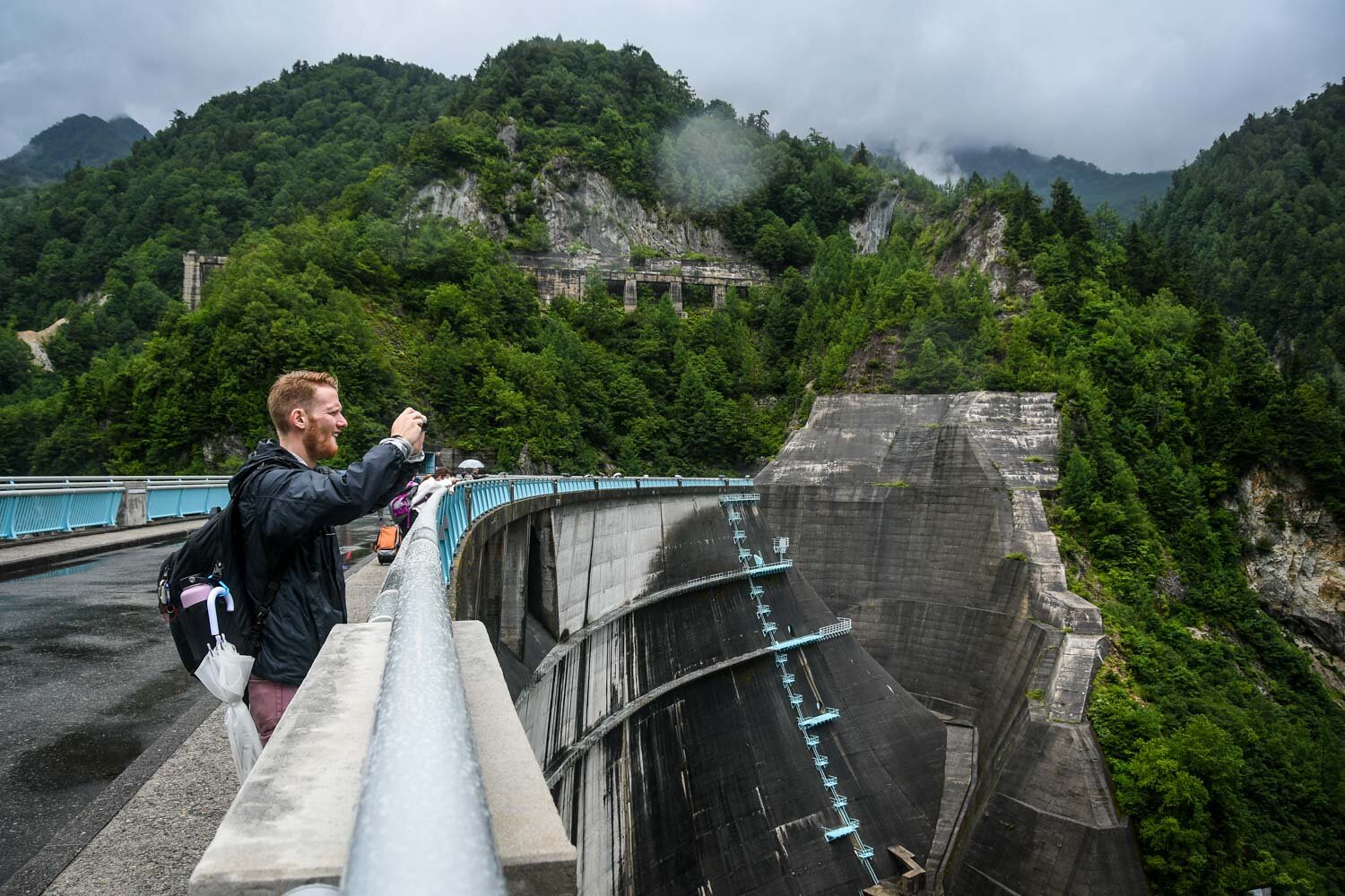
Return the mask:
[[[340,528],[350,562],[377,517]],[[159,618],[180,540],[0,580],[0,883],[207,696]]]

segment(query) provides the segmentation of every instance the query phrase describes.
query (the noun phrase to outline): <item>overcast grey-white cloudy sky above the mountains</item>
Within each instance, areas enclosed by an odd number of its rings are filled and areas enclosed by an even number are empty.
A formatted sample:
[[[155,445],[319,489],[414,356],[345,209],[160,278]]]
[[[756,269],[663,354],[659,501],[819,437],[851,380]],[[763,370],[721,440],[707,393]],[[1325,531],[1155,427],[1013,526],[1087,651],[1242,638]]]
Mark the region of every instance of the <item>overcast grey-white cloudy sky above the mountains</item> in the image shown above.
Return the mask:
[[[935,176],[989,144],[1174,168],[1345,77],[1341,0],[0,0],[0,157],[77,113],[157,130],[296,59],[467,74],[535,34],[642,46],[740,116],[894,144]]]

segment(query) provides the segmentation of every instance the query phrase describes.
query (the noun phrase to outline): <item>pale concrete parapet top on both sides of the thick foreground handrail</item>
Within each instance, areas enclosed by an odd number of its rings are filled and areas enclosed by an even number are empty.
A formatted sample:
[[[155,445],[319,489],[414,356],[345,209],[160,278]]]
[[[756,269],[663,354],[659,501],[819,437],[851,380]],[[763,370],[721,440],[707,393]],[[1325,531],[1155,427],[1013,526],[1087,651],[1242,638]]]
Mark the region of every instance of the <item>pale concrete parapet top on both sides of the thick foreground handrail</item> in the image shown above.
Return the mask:
[[[338,884],[355,826],[389,626],[336,626],[191,876],[191,896]],[[511,893],[574,893],[576,852],[486,630],[453,625],[491,829]]]

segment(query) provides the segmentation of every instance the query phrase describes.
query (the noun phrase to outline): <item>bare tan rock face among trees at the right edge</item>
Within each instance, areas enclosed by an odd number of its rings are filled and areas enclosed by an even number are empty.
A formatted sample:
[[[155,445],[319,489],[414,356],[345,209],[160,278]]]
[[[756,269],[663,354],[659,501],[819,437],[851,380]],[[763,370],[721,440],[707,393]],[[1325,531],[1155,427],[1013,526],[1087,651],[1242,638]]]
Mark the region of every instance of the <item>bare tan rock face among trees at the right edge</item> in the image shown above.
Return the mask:
[[[1345,536],[1332,516],[1301,477],[1268,470],[1245,476],[1229,509],[1252,545],[1244,567],[1266,611],[1345,658]]]

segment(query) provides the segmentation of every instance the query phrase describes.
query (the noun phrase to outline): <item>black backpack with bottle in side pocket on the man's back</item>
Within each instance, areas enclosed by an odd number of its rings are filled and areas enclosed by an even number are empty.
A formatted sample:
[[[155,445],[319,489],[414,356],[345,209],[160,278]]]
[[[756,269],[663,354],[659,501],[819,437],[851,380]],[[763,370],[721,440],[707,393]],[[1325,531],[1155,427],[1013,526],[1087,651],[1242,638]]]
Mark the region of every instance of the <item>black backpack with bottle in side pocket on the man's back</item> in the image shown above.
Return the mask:
[[[276,599],[278,582],[272,575],[265,594],[247,594],[238,496],[266,466],[257,463],[243,473],[243,480],[234,486],[233,500],[211,510],[206,524],[187,536],[187,543],[164,557],[159,567],[159,613],[168,623],[187,672],[195,673],[215,645],[210,630],[210,604],[215,609],[219,634],[238,653],[257,656],[261,627]],[[190,591],[192,588],[196,590]],[[184,591],[190,591],[186,606]],[[204,600],[199,599],[203,594],[208,594]],[[233,610],[229,610],[230,602]]]

